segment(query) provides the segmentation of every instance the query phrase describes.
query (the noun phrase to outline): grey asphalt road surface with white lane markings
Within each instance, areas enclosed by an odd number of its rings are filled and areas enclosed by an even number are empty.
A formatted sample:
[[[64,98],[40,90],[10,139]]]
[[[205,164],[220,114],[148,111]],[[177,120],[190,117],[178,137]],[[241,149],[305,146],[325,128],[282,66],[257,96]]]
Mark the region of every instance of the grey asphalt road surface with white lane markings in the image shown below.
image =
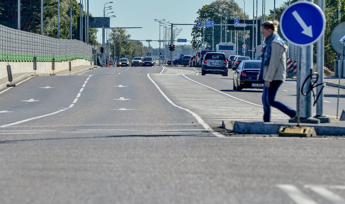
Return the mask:
[[[345,203],[344,139],[210,129],[262,117],[260,90],[230,90],[230,73],[98,68],[2,92],[0,203]],[[277,96],[292,107],[294,86]]]

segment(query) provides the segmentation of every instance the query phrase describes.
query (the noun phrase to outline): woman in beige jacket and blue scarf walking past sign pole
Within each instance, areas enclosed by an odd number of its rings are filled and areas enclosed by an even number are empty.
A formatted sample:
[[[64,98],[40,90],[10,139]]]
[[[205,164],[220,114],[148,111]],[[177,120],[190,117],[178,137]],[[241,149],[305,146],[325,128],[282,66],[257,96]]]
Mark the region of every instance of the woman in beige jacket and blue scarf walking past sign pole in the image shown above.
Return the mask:
[[[264,81],[262,103],[264,105],[264,122],[270,122],[271,106],[294,118],[296,111],[284,103],[275,100],[279,86],[286,78],[286,51],[287,46],[279,37],[279,22],[265,21],[261,25],[261,33],[265,36],[265,44],[261,50],[262,64],[258,78]]]

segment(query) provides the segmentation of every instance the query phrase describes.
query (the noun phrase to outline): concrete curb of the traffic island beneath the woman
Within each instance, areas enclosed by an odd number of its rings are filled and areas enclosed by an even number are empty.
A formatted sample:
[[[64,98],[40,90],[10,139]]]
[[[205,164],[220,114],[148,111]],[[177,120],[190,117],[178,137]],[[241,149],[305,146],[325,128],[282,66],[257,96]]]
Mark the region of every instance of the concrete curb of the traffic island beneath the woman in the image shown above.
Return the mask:
[[[241,134],[278,134],[281,126],[295,126],[297,123],[264,123],[250,121],[223,121],[222,127],[230,132]],[[345,135],[345,121],[334,121],[328,124],[307,124],[314,127],[318,135]]]

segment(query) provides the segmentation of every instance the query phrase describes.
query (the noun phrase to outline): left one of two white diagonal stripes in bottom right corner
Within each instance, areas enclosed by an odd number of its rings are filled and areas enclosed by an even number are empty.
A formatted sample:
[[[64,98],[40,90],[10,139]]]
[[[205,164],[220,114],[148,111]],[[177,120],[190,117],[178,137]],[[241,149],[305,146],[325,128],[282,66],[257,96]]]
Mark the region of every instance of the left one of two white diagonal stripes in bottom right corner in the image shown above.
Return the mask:
[[[317,204],[309,196],[300,191],[296,186],[289,184],[277,185],[297,204]]]

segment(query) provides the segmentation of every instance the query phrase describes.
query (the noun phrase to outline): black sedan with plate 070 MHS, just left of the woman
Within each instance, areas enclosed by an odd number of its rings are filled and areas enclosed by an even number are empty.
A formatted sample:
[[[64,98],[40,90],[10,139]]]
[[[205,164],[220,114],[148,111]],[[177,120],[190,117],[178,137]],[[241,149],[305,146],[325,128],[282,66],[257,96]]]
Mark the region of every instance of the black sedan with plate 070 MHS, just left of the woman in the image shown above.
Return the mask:
[[[264,81],[258,80],[261,67],[261,60],[244,60],[234,73],[233,89],[242,91],[242,89],[262,89]],[[235,67],[233,67],[235,70]]]

